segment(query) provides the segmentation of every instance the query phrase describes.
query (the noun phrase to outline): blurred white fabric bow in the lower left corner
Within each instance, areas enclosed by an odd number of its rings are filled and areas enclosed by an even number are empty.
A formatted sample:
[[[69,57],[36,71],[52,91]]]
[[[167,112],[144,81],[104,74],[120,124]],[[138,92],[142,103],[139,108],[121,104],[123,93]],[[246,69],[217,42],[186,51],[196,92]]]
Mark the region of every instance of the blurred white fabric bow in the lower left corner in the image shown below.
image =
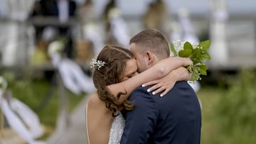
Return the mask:
[[[26,104],[18,101],[18,99],[10,97],[8,102],[2,95],[3,91],[0,90],[1,111],[3,111],[11,128],[29,144],[45,144],[43,141],[34,140],[43,135],[36,113],[29,109]],[[22,121],[26,123],[26,126]]]

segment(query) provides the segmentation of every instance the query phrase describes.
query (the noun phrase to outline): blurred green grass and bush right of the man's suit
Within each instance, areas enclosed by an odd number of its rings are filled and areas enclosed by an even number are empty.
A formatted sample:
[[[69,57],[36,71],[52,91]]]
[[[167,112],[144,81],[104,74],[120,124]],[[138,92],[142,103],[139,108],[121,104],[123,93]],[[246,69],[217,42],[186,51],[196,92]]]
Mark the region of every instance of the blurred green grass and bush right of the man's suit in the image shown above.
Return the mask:
[[[201,143],[255,143],[256,72],[242,70],[227,78],[227,87],[204,86],[198,92],[202,103]]]

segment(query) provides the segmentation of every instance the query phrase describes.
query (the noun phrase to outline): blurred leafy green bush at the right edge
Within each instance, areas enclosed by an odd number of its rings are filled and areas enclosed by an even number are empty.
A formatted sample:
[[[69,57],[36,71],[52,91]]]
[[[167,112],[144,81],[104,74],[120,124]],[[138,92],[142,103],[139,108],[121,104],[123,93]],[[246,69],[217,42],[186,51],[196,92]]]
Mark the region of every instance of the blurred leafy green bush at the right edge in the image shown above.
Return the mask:
[[[255,143],[256,72],[242,70],[215,106],[215,122],[225,143]]]

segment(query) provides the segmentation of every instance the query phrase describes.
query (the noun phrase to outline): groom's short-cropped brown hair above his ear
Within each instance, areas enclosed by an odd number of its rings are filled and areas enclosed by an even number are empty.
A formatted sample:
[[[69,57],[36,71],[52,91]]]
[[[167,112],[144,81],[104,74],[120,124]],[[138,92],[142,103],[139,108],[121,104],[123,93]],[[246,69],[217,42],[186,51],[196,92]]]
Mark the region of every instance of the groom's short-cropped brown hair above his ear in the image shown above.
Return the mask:
[[[170,57],[169,43],[164,35],[157,29],[147,29],[141,31],[129,41],[129,44],[135,43],[139,46],[138,52],[150,50],[154,52],[159,59]]]

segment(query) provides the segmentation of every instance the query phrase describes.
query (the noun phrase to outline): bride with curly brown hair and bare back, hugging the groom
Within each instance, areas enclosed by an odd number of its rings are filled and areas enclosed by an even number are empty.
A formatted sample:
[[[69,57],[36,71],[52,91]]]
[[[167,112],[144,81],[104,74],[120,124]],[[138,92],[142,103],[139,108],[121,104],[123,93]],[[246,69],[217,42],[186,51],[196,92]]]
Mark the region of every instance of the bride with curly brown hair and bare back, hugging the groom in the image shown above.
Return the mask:
[[[87,101],[87,143],[118,144],[125,123],[120,111],[134,109],[134,103],[127,99],[129,94],[146,82],[164,77],[169,81],[168,88],[158,84],[158,87],[150,89],[152,92],[160,88],[155,94],[164,90],[164,95],[176,81],[189,78],[183,66],[193,63],[189,58],[169,57],[137,74],[137,62],[132,52],[118,46],[105,46],[91,65],[94,68],[92,78],[97,92]]]

